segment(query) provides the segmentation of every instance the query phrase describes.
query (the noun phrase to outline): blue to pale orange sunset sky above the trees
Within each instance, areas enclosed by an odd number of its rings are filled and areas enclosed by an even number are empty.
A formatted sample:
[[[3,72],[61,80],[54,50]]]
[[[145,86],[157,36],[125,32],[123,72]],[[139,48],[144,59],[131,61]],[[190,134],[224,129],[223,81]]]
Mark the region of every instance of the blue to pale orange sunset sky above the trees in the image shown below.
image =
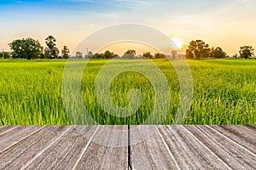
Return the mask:
[[[256,48],[255,7],[254,0],[1,0],[0,48],[23,37],[45,46],[52,35],[72,51],[95,31],[130,23],[159,30],[179,47],[201,39],[233,55],[243,45]]]

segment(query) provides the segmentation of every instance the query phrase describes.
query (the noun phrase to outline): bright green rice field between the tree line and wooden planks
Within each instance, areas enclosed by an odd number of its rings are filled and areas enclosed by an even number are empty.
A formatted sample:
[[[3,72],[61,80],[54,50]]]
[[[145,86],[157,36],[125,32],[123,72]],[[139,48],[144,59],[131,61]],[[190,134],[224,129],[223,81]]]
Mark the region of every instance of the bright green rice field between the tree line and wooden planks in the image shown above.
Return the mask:
[[[180,102],[177,74],[166,59],[153,60],[169,83],[171,102],[163,124],[175,122]],[[0,60],[0,125],[73,124],[63,104],[61,80],[66,60]],[[129,104],[127,92],[137,88],[142,104],[127,117],[108,114],[98,104],[95,81],[107,59],[88,62],[81,81],[84,106],[99,124],[142,124],[154,108],[154,90],[147,77],[126,71],[113,78],[110,94],[119,107]],[[134,65],[143,59],[122,60]],[[184,124],[256,124],[256,59],[188,60],[193,99]],[[113,65],[115,66],[115,65]],[[154,74],[154,72],[152,72]]]

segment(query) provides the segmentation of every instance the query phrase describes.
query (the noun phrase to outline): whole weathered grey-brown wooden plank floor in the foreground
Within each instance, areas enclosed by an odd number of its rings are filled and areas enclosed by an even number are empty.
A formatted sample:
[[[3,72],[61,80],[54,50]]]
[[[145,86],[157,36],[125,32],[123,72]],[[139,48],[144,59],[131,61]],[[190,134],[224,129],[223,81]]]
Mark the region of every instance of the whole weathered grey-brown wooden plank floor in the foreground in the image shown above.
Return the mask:
[[[131,147],[94,143],[103,127],[0,127],[0,169],[256,169],[255,125],[143,126],[155,133],[139,143],[127,126],[108,126],[125,133],[105,142]]]

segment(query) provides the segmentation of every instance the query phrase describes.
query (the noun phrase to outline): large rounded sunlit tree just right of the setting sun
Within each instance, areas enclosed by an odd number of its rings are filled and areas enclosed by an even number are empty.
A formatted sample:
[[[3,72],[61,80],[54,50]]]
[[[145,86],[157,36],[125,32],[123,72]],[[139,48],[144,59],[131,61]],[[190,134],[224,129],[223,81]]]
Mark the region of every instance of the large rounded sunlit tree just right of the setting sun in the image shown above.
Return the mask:
[[[202,59],[211,56],[211,48],[202,40],[189,42],[189,48],[186,49],[185,57],[187,59]]]

